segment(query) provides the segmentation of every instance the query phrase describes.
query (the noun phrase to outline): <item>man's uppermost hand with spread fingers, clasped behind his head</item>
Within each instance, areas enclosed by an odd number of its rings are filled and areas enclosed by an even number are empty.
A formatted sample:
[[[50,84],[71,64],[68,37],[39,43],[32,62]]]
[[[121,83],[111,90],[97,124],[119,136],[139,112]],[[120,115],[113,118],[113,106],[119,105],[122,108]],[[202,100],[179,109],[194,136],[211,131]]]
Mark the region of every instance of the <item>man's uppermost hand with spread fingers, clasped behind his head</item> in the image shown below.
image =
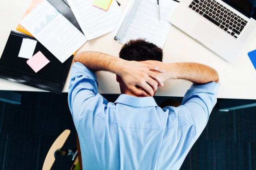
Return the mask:
[[[137,61],[123,60],[121,63],[118,75],[122,78],[126,87],[135,95],[154,96],[158,86],[163,86],[160,74],[163,74],[165,71],[158,66]],[[143,90],[136,86],[141,87]]]

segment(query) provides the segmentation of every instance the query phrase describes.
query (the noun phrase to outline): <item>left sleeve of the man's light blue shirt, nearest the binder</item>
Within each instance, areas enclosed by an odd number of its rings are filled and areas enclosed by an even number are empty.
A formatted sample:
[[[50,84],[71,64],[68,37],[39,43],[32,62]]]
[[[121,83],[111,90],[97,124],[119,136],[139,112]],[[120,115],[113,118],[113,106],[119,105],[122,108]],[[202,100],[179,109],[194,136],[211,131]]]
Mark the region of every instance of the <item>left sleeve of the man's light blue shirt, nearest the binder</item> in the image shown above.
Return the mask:
[[[76,127],[78,127],[86,109],[102,100],[98,93],[98,82],[95,72],[88,69],[82,63],[76,62],[71,68],[71,79],[68,90],[69,108]],[[102,103],[104,105],[104,103]]]

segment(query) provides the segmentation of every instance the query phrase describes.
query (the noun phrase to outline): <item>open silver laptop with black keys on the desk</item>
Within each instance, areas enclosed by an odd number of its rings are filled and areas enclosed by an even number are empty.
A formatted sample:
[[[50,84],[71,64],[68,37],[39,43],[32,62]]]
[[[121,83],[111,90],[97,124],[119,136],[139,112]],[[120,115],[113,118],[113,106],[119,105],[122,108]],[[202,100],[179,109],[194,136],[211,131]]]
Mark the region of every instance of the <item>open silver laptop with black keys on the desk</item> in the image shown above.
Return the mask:
[[[256,29],[256,0],[182,0],[168,20],[232,62]]]

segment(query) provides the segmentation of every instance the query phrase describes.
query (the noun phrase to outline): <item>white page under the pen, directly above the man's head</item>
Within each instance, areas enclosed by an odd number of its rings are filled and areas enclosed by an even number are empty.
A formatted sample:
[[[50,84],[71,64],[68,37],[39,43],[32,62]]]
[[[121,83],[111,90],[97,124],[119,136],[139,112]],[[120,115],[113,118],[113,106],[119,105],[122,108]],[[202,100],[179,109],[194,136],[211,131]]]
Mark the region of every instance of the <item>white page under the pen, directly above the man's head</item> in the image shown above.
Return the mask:
[[[178,3],[173,0],[159,1],[160,21],[156,0],[132,0],[130,3],[130,9],[119,24],[118,42],[125,44],[130,39],[145,38],[162,48],[171,26],[167,18]]]

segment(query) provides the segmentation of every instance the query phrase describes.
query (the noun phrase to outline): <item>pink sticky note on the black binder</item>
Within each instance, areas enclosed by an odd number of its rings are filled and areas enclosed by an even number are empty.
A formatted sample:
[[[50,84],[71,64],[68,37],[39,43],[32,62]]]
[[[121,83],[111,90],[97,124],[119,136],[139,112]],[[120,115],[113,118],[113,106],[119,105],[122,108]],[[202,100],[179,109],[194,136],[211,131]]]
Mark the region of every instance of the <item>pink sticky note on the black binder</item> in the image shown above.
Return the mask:
[[[31,59],[27,60],[27,64],[37,73],[44,66],[46,66],[50,61],[41,53],[41,51],[37,52],[37,54],[33,55]]]

